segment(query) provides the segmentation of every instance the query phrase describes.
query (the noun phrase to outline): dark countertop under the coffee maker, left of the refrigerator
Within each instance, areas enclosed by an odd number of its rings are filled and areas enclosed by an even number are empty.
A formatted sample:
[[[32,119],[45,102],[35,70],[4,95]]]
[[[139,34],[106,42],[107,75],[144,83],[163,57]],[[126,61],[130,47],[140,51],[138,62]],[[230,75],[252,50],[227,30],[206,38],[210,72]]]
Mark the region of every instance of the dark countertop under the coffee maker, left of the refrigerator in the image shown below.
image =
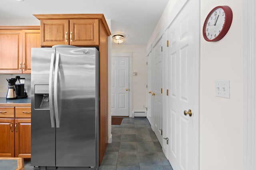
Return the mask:
[[[31,106],[31,98],[6,100],[6,98],[0,98],[0,106]]]

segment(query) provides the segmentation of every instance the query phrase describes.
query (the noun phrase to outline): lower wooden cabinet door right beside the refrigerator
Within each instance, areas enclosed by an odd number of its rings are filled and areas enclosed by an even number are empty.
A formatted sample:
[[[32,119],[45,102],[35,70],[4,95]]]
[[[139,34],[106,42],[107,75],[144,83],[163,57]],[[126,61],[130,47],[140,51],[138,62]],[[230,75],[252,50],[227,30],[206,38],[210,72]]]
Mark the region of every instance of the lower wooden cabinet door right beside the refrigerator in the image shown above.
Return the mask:
[[[15,119],[15,157],[31,158],[31,119]]]

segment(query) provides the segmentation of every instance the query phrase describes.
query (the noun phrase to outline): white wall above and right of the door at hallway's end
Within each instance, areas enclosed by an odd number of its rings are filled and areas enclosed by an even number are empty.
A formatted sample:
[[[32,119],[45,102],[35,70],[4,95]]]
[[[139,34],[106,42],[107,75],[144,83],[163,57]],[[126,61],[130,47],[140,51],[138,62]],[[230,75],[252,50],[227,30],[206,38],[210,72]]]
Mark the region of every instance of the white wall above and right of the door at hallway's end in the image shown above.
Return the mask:
[[[112,53],[132,53],[132,111],[145,111],[146,106],[146,45],[114,45]]]

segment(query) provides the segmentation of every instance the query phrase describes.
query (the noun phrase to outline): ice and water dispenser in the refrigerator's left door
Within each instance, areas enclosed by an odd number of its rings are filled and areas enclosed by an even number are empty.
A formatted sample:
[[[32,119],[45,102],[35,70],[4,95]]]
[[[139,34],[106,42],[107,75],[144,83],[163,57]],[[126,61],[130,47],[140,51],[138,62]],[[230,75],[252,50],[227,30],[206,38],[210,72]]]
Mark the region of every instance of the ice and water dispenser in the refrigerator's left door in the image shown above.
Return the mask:
[[[50,109],[49,85],[35,85],[35,109]]]

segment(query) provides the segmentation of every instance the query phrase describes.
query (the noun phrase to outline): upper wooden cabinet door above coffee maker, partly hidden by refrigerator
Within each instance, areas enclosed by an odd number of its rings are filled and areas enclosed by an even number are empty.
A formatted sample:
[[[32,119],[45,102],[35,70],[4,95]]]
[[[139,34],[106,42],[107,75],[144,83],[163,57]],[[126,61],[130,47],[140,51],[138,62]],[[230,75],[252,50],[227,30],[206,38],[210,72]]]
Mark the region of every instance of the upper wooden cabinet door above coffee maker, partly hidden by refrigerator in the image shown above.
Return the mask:
[[[22,72],[31,73],[31,48],[40,47],[40,30],[23,30]]]

